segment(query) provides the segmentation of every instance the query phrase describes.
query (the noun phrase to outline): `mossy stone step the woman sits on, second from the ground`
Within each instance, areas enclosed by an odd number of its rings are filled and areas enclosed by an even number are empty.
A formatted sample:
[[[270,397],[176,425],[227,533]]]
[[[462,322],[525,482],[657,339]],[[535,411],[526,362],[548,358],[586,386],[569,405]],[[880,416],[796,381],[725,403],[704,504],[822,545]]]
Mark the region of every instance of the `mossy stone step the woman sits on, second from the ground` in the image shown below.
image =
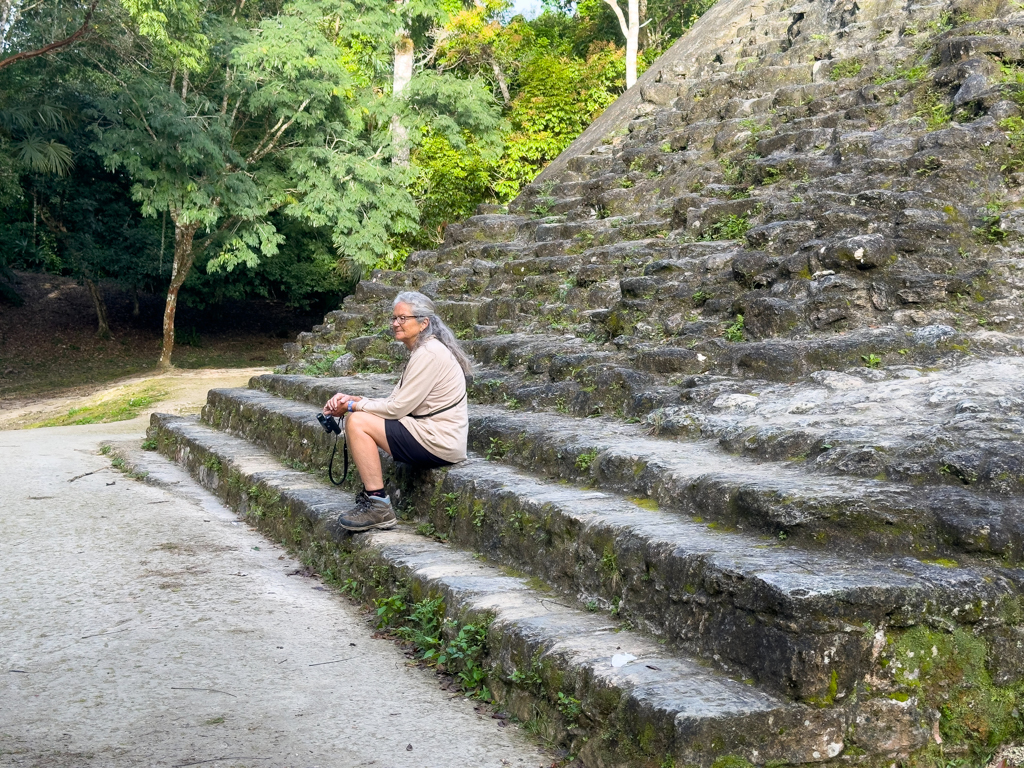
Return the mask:
[[[360,388],[357,380],[341,385]],[[502,416],[474,408],[473,428]],[[324,442],[307,404],[262,391],[212,390],[203,418],[286,460],[314,460],[308,446]],[[490,439],[489,453],[501,453],[501,439]],[[326,445],[319,452],[323,460]],[[453,467],[442,480],[412,483],[402,503],[459,546],[583,601],[612,605],[624,618],[761,686],[819,703],[882,674],[870,653],[876,628],[906,630],[938,616],[958,624],[948,617],[967,609],[965,593],[993,610],[1017,594],[1008,580],[985,571],[910,558],[845,560],[722,535],[675,512],[482,459]]]

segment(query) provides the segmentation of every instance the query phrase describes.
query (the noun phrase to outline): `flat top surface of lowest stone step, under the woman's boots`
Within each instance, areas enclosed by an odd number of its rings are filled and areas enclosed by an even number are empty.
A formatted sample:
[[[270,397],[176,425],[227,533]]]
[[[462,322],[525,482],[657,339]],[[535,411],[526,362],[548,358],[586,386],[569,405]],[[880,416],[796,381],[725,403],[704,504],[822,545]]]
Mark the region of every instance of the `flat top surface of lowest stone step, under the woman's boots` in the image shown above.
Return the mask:
[[[182,444],[215,456],[224,467],[247,480],[274,489],[314,523],[323,524],[351,505],[341,492],[325,486],[307,473],[284,468],[272,455],[238,437],[185,418],[155,414],[153,420],[160,431],[178,440],[179,462]],[[200,479],[203,474],[201,471]],[[205,474],[209,484],[212,473]],[[327,529],[333,538],[345,536],[330,524]],[[793,725],[813,720],[822,729],[805,734],[805,743],[799,750],[803,754],[791,755],[791,759],[810,761],[817,757],[812,757],[812,752],[835,756],[842,749],[835,716],[786,703],[698,662],[666,653],[658,643],[622,630],[604,615],[559,603],[531,589],[527,580],[509,577],[467,552],[411,532],[406,525],[353,539],[357,547],[373,550],[378,559],[418,582],[424,593],[444,595],[450,614],[494,614],[492,635],[518,636],[525,646],[543,650],[559,667],[569,668],[575,676],[589,677],[595,687],[622,691],[634,708],[652,711],[659,720],[673,723],[682,739],[703,732],[709,724],[715,730],[727,727],[730,720],[737,721],[740,728],[749,727],[752,718],[765,724],[771,721],[775,728],[776,720]],[[635,659],[613,666],[613,657],[621,654]],[[757,746],[769,753],[779,752],[770,743]]]

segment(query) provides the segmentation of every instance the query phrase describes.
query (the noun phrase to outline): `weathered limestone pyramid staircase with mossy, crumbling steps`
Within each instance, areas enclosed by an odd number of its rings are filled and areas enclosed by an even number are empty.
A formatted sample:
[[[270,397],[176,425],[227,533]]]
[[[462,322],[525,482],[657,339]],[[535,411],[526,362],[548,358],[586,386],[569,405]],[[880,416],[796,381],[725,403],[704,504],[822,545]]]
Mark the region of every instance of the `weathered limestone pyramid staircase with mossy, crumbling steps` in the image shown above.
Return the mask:
[[[153,435],[353,595],[486,627],[584,765],[984,764],[1024,736],[1021,61],[1008,4],[723,0],[508,212]],[[478,362],[472,456],[346,537],[313,415],[389,391],[407,288]]]

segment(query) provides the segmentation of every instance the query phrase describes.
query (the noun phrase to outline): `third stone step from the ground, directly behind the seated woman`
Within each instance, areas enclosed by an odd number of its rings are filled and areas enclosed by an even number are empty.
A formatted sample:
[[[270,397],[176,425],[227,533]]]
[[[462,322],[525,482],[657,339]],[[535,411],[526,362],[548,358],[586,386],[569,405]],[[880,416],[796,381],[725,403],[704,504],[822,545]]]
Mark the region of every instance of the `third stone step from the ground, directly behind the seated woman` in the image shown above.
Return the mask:
[[[313,379],[267,375],[252,386],[275,394],[325,402],[336,391],[361,390],[361,380]],[[302,394],[298,394],[298,393]],[[494,437],[507,445],[528,449],[515,460],[532,465],[555,457],[563,476],[597,482],[609,489],[653,499],[667,509],[710,517],[755,530],[790,536],[849,529],[867,536],[846,544],[858,553],[872,548],[889,554],[925,552],[949,554],[940,531],[954,531],[965,545],[981,552],[1015,551],[1024,537],[1024,519],[1007,500],[974,495],[957,487],[915,488],[910,485],[810,474],[788,462],[754,462],[725,454],[710,441],[680,442],[649,437],[641,427],[608,420],[595,422],[550,413],[510,413],[471,407],[471,444],[485,452]],[[581,471],[575,457],[593,452],[592,469]],[[511,452],[510,452],[511,455]],[[738,511],[737,511],[738,510]],[[731,517],[730,517],[731,516]],[[931,523],[931,524],[929,524]],[[880,531],[871,537],[871,528]],[[898,539],[901,532],[909,538]],[[922,538],[927,537],[927,538]],[[889,549],[886,549],[889,548]],[[959,551],[961,556],[969,556]],[[955,569],[940,568],[948,573]],[[942,579],[938,571],[933,577]]]

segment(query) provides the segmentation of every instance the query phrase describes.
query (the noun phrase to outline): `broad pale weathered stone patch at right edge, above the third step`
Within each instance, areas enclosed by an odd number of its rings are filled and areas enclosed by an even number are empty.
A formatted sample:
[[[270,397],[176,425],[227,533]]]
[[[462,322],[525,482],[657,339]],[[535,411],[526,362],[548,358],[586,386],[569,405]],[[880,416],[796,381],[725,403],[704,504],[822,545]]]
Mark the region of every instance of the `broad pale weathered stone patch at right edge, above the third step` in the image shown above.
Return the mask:
[[[901,364],[898,354],[880,357],[876,368],[821,371],[796,386],[699,377],[682,394],[686,404],[647,420],[664,434],[816,471],[1024,493],[1024,360],[943,371]]]

